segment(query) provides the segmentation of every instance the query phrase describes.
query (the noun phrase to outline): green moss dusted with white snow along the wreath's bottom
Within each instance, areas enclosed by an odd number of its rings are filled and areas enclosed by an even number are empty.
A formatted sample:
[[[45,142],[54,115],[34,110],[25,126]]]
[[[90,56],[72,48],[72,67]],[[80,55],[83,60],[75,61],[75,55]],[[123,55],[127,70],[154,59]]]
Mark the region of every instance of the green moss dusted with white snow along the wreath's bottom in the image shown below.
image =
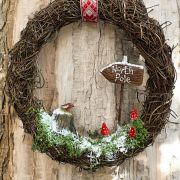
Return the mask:
[[[43,113],[48,118],[50,117],[43,110],[30,109],[28,111],[28,114],[35,115],[36,117],[36,134],[34,135],[33,150],[44,153],[51,147],[62,146],[70,157],[80,157],[83,153],[89,154],[92,152],[94,155],[92,166],[98,164],[99,156],[103,155],[111,159],[118,151],[125,152],[128,149],[141,147],[148,137],[148,132],[140,118],[119,128],[119,130],[110,136],[99,137],[98,139],[79,137],[70,131],[66,131],[67,134],[62,135],[52,131],[50,127],[51,120],[43,121]],[[128,136],[128,131],[132,126],[136,128],[136,136],[134,138]],[[121,148],[123,150],[120,150]]]

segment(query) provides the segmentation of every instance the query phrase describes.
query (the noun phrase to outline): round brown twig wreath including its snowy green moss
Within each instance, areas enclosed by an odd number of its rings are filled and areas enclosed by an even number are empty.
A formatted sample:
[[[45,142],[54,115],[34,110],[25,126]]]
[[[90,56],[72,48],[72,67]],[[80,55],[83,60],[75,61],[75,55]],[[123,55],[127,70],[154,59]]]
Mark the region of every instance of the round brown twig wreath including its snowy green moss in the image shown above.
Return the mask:
[[[142,0],[99,0],[98,8],[99,19],[123,29],[145,59],[149,79],[141,116],[110,136],[91,139],[66,129],[53,131],[52,116],[34,96],[34,89],[41,87],[37,55],[56,31],[81,19],[79,0],[55,0],[29,20],[10,51],[6,83],[25,132],[34,137],[35,149],[58,162],[94,170],[119,165],[153,143],[171,113],[175,82],[172,49],[165,42],[162,26],[148,17]],[[127,136],[129,128],[131,137]],[[134,138],[135,130],[139,141]]]

